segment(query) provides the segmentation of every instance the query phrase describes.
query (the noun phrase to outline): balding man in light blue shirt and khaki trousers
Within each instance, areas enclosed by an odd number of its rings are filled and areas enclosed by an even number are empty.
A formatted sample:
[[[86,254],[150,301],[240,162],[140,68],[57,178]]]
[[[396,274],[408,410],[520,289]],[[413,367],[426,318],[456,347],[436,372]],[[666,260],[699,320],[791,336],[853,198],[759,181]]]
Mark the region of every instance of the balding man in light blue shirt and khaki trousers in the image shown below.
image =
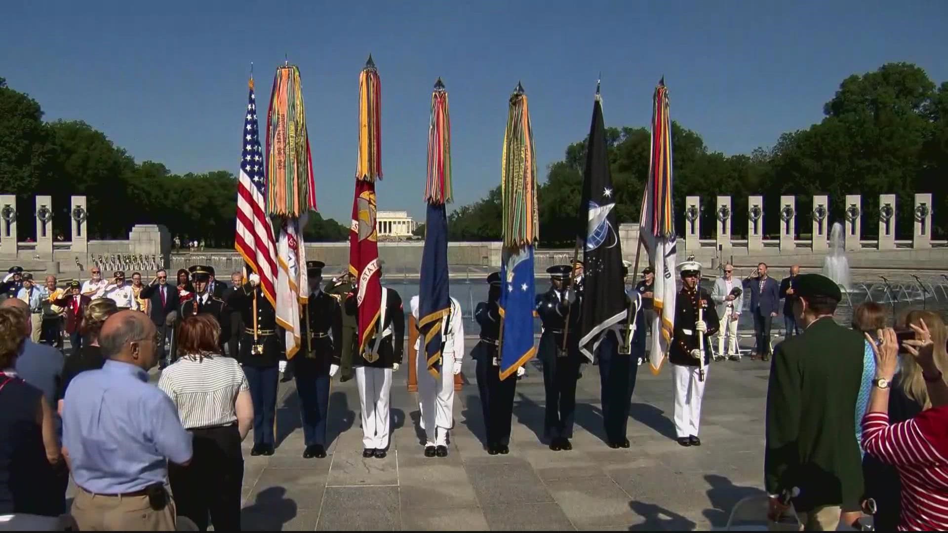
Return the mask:
[[[164,482],[168,461],[191,462],[191,433],[171,398],[148,382],[156,343],[147,315],[119,311],[102,324],[105,365],[66,389],[63,448],[79,488],[71,513],[80,530],[175,528]]]

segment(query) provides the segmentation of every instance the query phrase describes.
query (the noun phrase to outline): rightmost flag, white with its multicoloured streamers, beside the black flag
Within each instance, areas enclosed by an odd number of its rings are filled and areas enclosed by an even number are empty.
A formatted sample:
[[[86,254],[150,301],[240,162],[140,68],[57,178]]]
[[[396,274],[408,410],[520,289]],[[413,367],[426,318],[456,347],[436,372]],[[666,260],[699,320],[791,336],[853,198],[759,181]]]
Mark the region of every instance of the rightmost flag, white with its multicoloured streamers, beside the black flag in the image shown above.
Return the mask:
[[[675,219],[671,211],[671,119],[668,116],[668,89],[665,79],[655,87],[651,122],[651,150],[648,180],[642,198],[639,235],[655,267],[655,320],[649,363],[658,374],[668,352],[675,328]]]

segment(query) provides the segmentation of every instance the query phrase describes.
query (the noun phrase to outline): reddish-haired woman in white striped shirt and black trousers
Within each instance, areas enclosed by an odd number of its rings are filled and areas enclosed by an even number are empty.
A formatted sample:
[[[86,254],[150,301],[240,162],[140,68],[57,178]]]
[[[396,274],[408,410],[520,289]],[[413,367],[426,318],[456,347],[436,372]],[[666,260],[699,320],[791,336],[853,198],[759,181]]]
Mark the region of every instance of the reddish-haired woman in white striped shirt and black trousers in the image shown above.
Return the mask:
[[[221,326],[210,315],[185,319],[176,335],[183,356],[162,371],[158,387],[194,435],[194,455],[187,467],[168,466],[174,503],[201,531],[209,513],[215,531],[239,531],[241,442],[253,423],[246,376],[240,363],[220,354]]]

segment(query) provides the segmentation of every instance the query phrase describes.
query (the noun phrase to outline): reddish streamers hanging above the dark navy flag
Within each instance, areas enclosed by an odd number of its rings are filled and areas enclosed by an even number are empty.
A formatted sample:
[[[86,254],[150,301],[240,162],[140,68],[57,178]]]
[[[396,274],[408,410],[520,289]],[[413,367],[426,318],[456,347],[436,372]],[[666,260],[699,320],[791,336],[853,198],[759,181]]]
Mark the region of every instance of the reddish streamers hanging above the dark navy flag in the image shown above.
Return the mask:
[[[441,78],[431,93],[431,121],[428,124],[428,181],[425,201],[451,201],[451,118],[447,112],[447,91]]]

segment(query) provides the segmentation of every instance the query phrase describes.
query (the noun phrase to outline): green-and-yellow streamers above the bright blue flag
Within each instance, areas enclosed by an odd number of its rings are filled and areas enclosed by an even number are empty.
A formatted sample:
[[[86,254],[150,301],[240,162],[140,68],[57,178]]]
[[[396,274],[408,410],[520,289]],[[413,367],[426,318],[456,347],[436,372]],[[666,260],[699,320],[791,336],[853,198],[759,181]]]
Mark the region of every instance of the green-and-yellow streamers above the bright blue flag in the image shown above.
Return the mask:
[[[534,245],[539,239],[537,157],[530,110],[520,83],[510,96],[507,129],[503,135],[501,199],[503,246]]]

